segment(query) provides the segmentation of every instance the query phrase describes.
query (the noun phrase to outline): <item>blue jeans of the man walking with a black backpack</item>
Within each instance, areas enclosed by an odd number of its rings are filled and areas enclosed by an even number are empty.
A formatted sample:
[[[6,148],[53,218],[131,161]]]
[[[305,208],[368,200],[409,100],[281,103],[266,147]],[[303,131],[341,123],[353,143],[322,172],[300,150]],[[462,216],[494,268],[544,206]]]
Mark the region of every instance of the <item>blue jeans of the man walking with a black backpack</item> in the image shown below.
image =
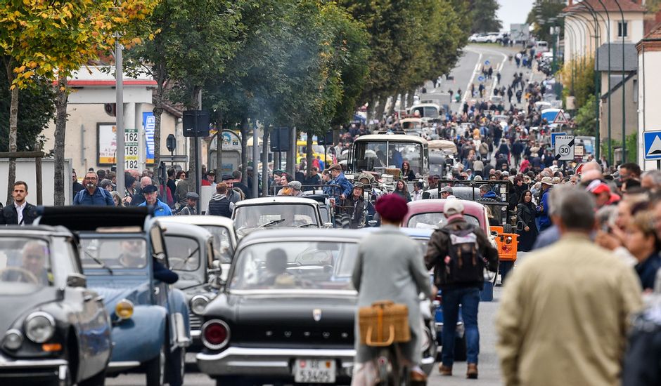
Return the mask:
[[[461,304],[461,316],[466,328],[466,362],[477,364],[480,354],[480,331],[477,330],[477,307],[480,305],[480,290],[458,288],[443,290],[443,347],[441,357],[445,366],[454,363],[454,341],[456,324]]]

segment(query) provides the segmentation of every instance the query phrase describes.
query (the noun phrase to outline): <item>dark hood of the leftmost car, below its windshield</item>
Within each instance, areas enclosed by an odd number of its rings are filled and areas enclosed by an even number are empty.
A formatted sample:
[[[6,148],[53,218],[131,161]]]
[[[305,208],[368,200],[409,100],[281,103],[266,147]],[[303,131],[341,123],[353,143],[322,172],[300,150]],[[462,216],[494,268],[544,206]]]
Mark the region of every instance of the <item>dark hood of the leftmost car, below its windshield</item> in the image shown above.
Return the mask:
[[[4,335],[23,314],[37,309],[39,305],[58,300],[58,289],[28,284],[0,284],[0,333]]]

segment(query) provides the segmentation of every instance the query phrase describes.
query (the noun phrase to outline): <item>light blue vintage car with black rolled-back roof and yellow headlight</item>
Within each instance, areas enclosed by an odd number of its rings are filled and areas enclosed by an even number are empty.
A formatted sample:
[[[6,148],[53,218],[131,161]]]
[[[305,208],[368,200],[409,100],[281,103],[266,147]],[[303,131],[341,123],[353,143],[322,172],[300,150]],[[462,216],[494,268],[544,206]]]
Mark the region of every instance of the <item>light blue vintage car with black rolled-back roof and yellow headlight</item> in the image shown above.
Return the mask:
[[[141,371],[148,386],[180,385],[191,343],[188,302],[183,292],[154,279],[157,263],[170,265],[151,209],[49,207],[37,221],[63,225],[80,239],[89,286],[105,297],[113,321],[108,373]]]

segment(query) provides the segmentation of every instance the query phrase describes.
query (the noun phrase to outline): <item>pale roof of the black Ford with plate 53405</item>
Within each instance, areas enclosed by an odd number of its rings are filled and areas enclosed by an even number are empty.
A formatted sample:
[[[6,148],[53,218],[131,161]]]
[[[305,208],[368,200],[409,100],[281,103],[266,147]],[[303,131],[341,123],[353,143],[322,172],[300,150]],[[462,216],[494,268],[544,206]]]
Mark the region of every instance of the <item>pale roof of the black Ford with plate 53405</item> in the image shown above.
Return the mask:
[[[355,232],[356,229],[330,229],[330,228],[281,228],[281,229],[259,229],[250,232],[240,244],[258,242],[259,240],[286,241],[287,239],[306,239],[310,241],[326,241],[328,239],[355,239],[364,237],[361,232]]]

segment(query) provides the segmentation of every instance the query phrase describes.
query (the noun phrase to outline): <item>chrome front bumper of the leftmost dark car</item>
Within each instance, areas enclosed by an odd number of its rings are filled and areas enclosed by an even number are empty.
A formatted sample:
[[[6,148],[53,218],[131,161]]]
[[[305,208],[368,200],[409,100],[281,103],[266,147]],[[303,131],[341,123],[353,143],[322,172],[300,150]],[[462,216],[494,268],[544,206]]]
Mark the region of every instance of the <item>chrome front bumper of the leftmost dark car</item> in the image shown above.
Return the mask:
[[[68,373],[69,363],[65,359],[11,359],[0,354],[0,379],[9,377],[66,380]]]

